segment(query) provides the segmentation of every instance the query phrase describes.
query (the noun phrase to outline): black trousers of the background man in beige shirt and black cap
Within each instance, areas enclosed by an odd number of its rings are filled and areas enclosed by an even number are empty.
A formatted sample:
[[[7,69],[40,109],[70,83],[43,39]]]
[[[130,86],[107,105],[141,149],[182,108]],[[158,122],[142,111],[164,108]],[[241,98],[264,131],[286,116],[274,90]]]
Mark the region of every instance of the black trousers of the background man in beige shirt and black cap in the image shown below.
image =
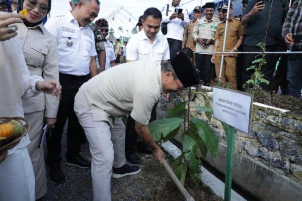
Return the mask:
[[[210,78],[213,75],[213,68],[210,54],[198,54],[195,56],[196,68],[199,70],[199,78],[203,79],[203,85],[210,85]]]

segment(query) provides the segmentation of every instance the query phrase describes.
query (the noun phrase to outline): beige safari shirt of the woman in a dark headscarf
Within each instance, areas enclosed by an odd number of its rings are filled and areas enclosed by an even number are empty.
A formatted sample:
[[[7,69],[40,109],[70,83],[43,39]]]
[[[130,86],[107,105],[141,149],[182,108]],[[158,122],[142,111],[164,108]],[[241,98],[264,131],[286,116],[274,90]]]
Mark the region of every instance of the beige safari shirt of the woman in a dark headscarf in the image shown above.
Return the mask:
[[[18,41],[22,47],[25,61],[31,75],[42,76],[45,81],[59,80],[58,48],[55,38],[44,28],[43,24],[26,27],[18,26]],[[45,117],[56,118],[59,99],[51,94],[37,93],[23,98],[24,113],[43,111]]]

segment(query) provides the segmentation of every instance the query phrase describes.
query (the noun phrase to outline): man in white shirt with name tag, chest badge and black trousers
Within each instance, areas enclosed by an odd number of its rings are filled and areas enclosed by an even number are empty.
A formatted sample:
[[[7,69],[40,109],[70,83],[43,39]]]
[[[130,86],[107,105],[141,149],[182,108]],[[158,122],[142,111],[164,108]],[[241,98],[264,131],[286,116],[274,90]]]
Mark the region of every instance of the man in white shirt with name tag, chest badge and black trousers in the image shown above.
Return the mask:
[[[84,131],[73,111],[73,104],[80,86],[97,75],[95,37],[88,24],[98,16],[99,4],[98,0],[80,0],[74,4],[75,8],[71,12],[50,18],[45,24],[45,28],[58,44],[59,79],[62,85],[57,122],[47,138],[50,178],[56,184],[65,181],[60,167],[60,155],[61,138],[67,118],[66,163],[80,168],[91,166],[89,161],[79,155]]]

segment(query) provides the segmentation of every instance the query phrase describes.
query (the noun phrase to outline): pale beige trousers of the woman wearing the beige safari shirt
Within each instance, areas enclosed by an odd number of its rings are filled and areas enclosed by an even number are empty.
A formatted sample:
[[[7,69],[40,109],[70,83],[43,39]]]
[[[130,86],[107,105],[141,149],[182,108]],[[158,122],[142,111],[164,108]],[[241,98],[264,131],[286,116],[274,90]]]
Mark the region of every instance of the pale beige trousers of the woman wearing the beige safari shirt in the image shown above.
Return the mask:
[[[30,131],[28,132],[30,144],[27,146],[27,149],[36,178],[36,199],[39,199],[45,195],[47,191],[43,142],[41,142],[41,146],[38,148],[43,127],[44,111],[27,113],[24,114],[24,117],[30,125]]]

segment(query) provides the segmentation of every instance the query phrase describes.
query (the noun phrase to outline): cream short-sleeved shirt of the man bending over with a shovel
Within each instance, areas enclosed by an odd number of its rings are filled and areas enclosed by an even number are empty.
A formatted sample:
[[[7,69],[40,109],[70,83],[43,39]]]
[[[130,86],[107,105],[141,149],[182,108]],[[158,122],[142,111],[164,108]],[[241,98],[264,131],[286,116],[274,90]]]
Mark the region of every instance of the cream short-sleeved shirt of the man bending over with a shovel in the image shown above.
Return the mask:
[[[161,66],[150,60],[123,63],[84,83],[74,98],[74,111],[92,110],[93,121],[107,121],[130,114],[147,125],[162,92]],[[131,112],[132,111],[132,112]]]

